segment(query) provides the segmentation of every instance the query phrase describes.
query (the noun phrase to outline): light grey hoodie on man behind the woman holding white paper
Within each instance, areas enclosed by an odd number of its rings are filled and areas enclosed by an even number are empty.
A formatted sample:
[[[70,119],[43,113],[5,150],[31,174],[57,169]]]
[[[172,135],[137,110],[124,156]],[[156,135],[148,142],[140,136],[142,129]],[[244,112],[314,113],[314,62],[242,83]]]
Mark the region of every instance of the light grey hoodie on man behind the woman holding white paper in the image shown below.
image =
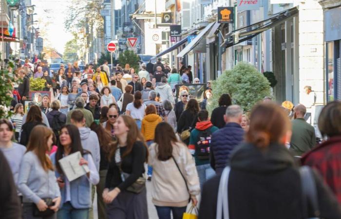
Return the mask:
[[[101,158],[97,134],[86,127],[78,128],[78,130],[83,149],[90,151],[91,156],[94,158],[96,168],[99,170],[99,161]]]

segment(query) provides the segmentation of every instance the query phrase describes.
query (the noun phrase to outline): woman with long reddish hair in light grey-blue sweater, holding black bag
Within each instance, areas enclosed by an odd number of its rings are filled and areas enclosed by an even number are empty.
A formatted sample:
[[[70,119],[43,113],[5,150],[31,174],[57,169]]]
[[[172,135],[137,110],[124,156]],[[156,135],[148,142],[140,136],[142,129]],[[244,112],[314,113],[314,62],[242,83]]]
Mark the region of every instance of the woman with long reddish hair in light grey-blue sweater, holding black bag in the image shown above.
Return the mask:
[[[52,162],[46,155],[46,151],[51,150],[53,138],[52,130],[45,126],[36,126],[31,132],[18,177],[24,219],[56,218],[60,191]]]

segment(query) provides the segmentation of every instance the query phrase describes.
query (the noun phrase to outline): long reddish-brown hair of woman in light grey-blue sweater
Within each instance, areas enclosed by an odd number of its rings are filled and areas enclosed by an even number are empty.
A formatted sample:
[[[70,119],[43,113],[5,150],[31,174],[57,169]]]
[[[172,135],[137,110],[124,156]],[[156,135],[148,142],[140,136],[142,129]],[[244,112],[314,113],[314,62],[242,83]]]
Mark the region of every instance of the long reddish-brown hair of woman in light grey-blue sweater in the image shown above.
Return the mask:
[[[53,165],[50,158],[46,155],[46,151],[50,148],[47,147],[47,140],[50,136],[54,136],[53,131],[45,126],[36,126],[32,129],[30,138],[27,144],[27,151],[33,151],[37,154],[41,166],[45,171],[52,170]]]

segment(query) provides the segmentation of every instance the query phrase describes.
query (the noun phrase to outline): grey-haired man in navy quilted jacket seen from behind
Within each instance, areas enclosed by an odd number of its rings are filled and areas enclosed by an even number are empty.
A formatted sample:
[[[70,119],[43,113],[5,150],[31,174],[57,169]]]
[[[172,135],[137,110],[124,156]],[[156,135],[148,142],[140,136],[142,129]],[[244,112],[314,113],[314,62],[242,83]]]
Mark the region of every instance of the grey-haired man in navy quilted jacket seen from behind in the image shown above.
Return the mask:
[[[244,140],[244,130],[240,126],[242,115],[240,106],[227,107],[224,115],[225,127],[212,134],[210,164],[217,174],[225,168],[231,151]]]

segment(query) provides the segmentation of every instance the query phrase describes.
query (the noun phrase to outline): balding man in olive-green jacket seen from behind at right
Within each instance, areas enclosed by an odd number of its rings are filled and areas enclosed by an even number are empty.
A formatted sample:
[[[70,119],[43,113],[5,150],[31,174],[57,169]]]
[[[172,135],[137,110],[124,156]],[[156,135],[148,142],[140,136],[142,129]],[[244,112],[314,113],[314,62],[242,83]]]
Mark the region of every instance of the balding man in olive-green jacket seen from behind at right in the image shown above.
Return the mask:
[[[294,108],[290,150],[295,156],[301,156],[316,144],[315,129],[304,120],[305,113],[306,108],[302,104]]]

